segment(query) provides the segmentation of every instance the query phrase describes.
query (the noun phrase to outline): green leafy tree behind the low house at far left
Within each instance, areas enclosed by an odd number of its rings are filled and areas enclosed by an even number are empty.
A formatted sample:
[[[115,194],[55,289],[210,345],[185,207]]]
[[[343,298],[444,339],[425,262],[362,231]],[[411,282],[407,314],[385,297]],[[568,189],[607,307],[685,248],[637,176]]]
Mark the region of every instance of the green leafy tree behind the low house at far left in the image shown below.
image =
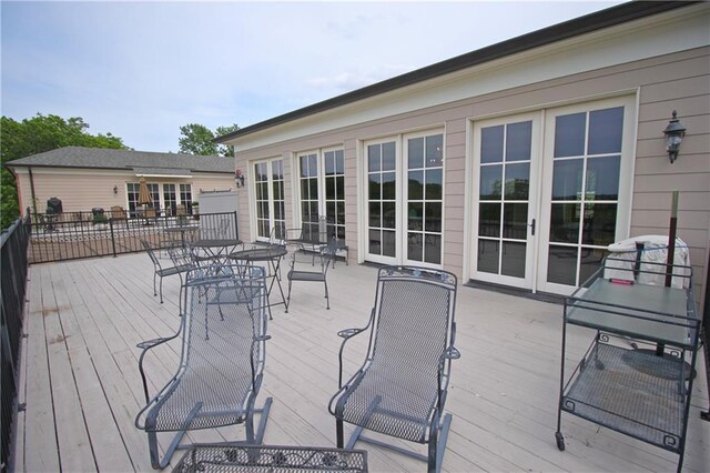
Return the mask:
[[[79,117],[63,119],[38,113],[31,119],[16,121],[2,117],[0,121],[0,158],[2,164],[32,154],[64,147],[128,149],[123,140],[111,133],[90,134],[89,124]],[[4,167],[0,170],[0,228],[8,228],[20,214],[14,175]]]

